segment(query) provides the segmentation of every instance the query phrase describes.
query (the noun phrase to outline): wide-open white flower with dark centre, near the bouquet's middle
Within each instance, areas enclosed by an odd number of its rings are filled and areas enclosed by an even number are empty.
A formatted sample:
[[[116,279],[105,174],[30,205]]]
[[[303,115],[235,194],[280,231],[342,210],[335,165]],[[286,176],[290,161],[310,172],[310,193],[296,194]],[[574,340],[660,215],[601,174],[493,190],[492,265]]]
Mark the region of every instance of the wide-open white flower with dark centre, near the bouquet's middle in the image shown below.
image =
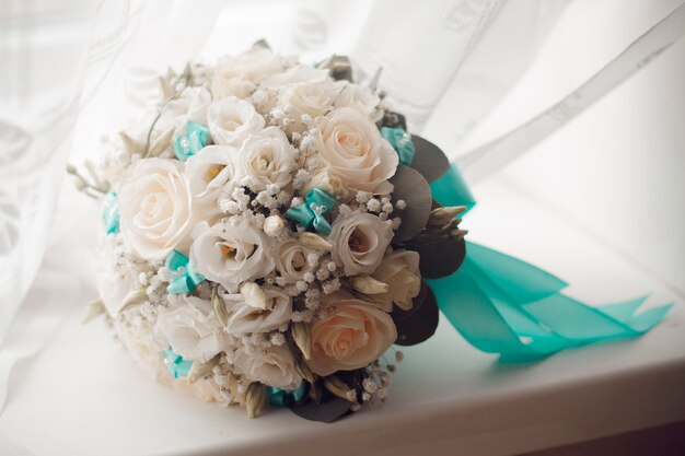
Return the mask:
[[[269,238],[252,224],[219,223],[198,226],[190,261],[207,279],[234,293],[239,285],[274,270]]]

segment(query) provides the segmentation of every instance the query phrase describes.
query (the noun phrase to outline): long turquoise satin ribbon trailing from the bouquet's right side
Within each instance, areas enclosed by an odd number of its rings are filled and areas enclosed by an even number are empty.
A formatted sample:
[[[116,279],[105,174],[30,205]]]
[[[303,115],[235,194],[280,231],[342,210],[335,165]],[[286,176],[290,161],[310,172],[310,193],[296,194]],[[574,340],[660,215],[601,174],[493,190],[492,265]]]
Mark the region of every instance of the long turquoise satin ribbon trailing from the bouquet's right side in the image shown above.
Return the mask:
[[[444,206],[475,201],[458,169],[439,180],[433,198]],[[433,183],[436,184],[436,183]],[[452,189],[450,189],[452,186]],[[640,336],[672,304],[637,314],[646,297],[591,307],[561,293],[567,283],[533,265],[466,243],[452,276],[428,280],[438,306],[474,347],[502,361],[535,360],[588,343]]]

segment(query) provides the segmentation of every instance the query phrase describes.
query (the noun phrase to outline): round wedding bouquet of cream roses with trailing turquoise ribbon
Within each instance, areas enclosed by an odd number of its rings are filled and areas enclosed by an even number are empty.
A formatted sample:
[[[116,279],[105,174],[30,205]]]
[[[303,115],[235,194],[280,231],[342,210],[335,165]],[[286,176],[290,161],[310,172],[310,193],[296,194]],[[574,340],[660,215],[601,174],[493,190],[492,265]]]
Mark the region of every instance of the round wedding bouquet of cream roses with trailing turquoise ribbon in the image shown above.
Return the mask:
[[[159,106],[108,141],[90,178],[69,169],[104,204],[90,316],[161,382],[249,417],[271,405],[333,421],[386,398],[403,359],[388,350],[428,339],[439,306],[512,359],[663,315],[585,307],[475,244],[466,258],[458,217],[473,200],[457,169],[384,107],[378,74],[353,83],[346,58],[312,67],[256,45],[160,83]],[[565,315],[579,309],[574,335]]]

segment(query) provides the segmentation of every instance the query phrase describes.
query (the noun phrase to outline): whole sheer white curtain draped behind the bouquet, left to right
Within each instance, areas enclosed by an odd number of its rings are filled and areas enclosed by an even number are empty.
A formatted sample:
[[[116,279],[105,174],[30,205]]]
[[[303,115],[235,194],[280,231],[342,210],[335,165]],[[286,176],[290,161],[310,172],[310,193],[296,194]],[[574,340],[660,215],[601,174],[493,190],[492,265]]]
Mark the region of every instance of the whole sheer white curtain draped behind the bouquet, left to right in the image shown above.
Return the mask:
[[[525,77],[539,66],[541,49],[547,66],[570,74],[587,63],[576,44],[588,50],[588,36],[623,39],[562,91],[545,92],[539,109],[682,1],[592,3],[0,0],[0,409],[15,362],[94,297],[98,209],[71,186],[60,194],[67,157],[96,161],[103,135],[155,103],[156,73],[239,52],[259,38],[305,61],[348,54],[358,78],[383,67],[387,104],[407,114],[413,131],[448,151],[466,151],[537,114],[525,109],[526,100],[509,117],[501,112],[522,84],[536,93],[535,79]],[[498,116],[509,121],[497,122],[499,130],[491,120]]]

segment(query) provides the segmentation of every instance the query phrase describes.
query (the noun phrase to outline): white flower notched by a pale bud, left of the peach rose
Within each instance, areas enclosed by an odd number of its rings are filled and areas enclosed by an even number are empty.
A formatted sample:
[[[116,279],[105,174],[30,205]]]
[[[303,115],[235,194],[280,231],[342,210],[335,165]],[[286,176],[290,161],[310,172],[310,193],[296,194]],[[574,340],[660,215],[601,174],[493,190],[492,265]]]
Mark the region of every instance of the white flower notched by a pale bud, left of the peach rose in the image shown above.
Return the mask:
[[[269,332],[290,321],[292,299],[281,288],[265,285],[266,308],[256,308],[247,304],[242,294],[224,296],[227,308],[231,313],[227,329],[229,332]]]

